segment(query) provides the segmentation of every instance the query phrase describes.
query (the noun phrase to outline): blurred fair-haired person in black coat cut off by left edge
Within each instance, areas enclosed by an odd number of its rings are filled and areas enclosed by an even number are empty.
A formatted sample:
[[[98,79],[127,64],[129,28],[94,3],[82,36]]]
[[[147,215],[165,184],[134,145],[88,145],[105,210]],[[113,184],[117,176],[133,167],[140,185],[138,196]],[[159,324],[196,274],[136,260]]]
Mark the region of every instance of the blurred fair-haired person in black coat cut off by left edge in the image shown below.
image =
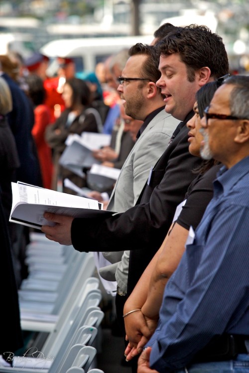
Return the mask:
[[[1,242],[1,333],[0,354],[7,359],[23,345],[16,275],[13,265],[10,235],[14,230],[7,226],[11,209],[11,181],[19,159],[13,134],[8,126],[6,114],[12,109],[11,94],[4,79],[0,78],[0,242]],[[13,238],[12,238],[13,240]],[[5,353],[5,354],[4,354]]]

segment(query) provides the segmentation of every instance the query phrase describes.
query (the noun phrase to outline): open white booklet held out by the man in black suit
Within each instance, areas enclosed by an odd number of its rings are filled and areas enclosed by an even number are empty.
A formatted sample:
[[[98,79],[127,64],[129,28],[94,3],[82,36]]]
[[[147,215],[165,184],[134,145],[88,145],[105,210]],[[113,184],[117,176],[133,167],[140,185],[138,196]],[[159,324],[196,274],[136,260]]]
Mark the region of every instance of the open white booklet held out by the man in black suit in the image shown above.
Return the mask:
[[[43,225],[53,226],[54,223],[43,217],[46,211],[74,218],[114,214],[112,211],[103,210],[103,204],[94,199],[40,188],[19,181],[11,183],[11,187],[12,208],[9,221],[28,227],[40,229]]]

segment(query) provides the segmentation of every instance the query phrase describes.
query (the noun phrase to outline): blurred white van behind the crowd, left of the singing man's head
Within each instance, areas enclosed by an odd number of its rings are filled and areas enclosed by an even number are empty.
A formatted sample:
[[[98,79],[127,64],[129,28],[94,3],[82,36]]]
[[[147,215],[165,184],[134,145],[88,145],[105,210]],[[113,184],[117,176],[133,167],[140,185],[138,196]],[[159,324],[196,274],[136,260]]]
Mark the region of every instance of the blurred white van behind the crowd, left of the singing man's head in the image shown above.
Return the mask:
[[[59,39],[48,42],[40,53],[49,58],[70,57],[76,63],[76,71],[95,69],[97,63],[108,56],[129,48],[136,43],[150,44],[153,36],[117,36],[79,39]]]

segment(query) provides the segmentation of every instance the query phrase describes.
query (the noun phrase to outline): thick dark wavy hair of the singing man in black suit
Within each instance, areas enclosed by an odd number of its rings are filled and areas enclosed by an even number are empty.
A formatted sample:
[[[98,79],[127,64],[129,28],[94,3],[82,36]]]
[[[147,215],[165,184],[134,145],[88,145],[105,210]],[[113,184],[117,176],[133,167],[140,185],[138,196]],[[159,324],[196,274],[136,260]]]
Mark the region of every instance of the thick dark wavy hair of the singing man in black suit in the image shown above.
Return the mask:
[[[187,66],[188,79],[194,80],[195,72],[202,67],[209,67],[211,77],[217,79],[228,73],[228,55],[222,38],[207,26],[191,24],[178,27],[160,40],[155,48],[160,55],[179,53],[180,59]]]

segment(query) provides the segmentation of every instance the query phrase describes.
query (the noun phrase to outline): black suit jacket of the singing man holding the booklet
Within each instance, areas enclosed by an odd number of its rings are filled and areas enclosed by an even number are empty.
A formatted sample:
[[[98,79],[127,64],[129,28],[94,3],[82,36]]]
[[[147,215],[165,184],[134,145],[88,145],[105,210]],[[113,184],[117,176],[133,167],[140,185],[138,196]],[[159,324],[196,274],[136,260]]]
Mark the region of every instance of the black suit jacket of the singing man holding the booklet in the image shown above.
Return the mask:
[[[192,172],[201,159],[188,151],[190,113],[181,122],[175,137],[154,166],[137,204],[107,219],[74,219],[72,243],[79,251],[118,251],[130,249],[128,295],[143,270],[159,249],[172,223],[177,205],[183,201]]]

